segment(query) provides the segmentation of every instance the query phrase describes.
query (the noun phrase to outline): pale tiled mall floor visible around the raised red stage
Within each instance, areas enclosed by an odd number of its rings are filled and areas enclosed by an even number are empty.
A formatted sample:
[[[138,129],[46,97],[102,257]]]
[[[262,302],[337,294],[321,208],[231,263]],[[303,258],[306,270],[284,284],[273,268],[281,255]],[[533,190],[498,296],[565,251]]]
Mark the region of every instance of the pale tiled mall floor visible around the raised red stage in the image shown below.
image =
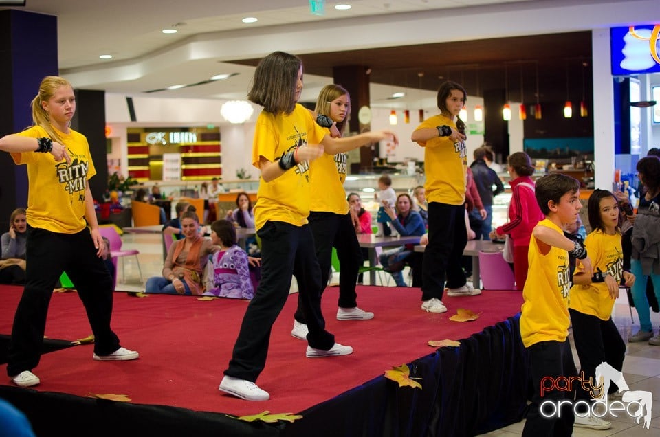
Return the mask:
[[[142,269],[143,282],[140,283],[140,275],[135,265],[134,257],[126,257],[119,260],[117,289],[124,291],[144,291],[144,282],[150,276],[160,276],[163,267],[162,243],[160,234],[124,234],[123,249],[137,249],[140,251],[139,260]],[[124,273],[126,279],[122,276],[122,262],[125,262]],[[407,277],[407,276],[406,276]],[[338,278],[333,278],[337,280]],[[369,280],[369,275],[364,276],[365,281]],[[292,284],[292,291],[297,291],[295,279]],[[639,330],[639,318],[636,311],[632,310],[634,322],[630,320],[630,311],[628,300],[624,293],[617,300],[614,307],[613,318],[619,332],[624,339],[627,339],[631,333]],[[660,315],[651,313],[651,319],[654,328],[660,325]],[[571,338],[572,340],[572,338]],[[575,350],[573,350],[575,363],[579,363]],[[573,436],[630,436],[630,437],[650,437],[660,434],[660,346],[650,346],[646,343],[628,344],[626,360],[624,361],[624,375],[630,390],[646,390],[653,394],[652,420],[651,428],[645,429],[635,423],[625,412],[615,418],[608,416],[607,419],[612,422],[612,428],[606,431],[593,431],[590,429],[576,428]],[[513,437],[522,434],[524,422],[514,423],[508,427],[498,429],[494,432],[484,434],[485,436]]]

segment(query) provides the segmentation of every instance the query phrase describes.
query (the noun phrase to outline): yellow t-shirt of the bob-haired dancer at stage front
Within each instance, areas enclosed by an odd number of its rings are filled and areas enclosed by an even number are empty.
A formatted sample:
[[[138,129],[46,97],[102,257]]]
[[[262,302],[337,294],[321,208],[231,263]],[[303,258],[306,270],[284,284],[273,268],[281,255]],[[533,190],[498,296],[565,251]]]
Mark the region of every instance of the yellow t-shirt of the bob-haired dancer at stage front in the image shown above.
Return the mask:
[[[259,168],[264,157],[275,162],[283,153],[309,144],[320,144],[325,131],[318,126],[311,113],[296,104],[290,114],[273,115],[261,111],[254,128],[252,165]],[[276,179],[261,178],[254,206],[254,225],[261,229],[267,221],[283,221],[295,226],[307,224],[309,216],[309,163],[303,161]]]

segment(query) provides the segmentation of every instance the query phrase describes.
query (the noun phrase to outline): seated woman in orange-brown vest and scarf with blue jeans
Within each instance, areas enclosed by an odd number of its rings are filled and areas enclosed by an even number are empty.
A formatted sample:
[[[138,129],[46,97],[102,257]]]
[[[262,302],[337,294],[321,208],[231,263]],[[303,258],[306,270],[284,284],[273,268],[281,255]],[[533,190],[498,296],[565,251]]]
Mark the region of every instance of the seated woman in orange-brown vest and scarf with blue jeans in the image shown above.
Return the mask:
[[[217,252],[219,247],[199,234],[199,219],[194,207],[181,214],[181,232],[185,238],[170,246],[165,258],[163,276],[149,278],[146,281],[145,293],[203,293],[202,272],[208,256]]]

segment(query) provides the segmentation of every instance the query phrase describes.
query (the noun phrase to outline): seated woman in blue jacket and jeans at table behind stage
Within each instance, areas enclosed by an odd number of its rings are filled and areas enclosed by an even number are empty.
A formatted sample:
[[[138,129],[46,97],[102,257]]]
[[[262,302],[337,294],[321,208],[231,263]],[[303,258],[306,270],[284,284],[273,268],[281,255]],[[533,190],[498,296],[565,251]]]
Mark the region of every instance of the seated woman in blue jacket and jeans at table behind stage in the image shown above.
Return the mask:
[[[392,219],[392,225],[397,229],[400,236],[422,236],[426,234],[426,226],[421,219],[419,212],[412,210],[412,199],[409,194],[399,194],[397,197],[397,211],[390,205],[385,207],[385,213]],[[412,258],[414,245],[405,245],[397,249],[384,251],[380,255],[380,263],[383,269],[392,273],[392,277],[397,283],[397,287],[407,287],[406,281],[401,271],[404,269],[406,262]],[[415,279],[415,272],[413,272],[413,279]],[[421,276],[419,276],[421,282]],[[421,283],[417,284],[413,280],[412,287],[421,287]]]

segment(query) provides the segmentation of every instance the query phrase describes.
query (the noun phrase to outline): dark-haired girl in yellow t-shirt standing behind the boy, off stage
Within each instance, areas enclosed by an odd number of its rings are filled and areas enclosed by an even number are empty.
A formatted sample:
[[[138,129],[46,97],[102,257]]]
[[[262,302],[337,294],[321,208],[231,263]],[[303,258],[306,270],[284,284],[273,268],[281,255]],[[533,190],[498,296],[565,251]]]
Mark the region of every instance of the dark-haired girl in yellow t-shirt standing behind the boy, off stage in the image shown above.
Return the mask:
[[[595,378],[596,367],[603,362],[621,371],[626,343],[612,320],[612,308],[619,297],[621,279],[627,287],[635,283],[635,276],[624,271],[617,199],[607,190],[594,190],[587,208],[593,231],[586,236],[584,247],[593,263],[594,274],[589,276],[584,267],[577,267],[569,301],[573,339],[583,380]],[[609,394],[614,392],[617,392],[615,384],[610,385]],[[587,402],[592,399],[581,386],[577,388],[576,398]],[[575,416],[575,426],[593,428],[599,425],[599,421],[595,417]]]

